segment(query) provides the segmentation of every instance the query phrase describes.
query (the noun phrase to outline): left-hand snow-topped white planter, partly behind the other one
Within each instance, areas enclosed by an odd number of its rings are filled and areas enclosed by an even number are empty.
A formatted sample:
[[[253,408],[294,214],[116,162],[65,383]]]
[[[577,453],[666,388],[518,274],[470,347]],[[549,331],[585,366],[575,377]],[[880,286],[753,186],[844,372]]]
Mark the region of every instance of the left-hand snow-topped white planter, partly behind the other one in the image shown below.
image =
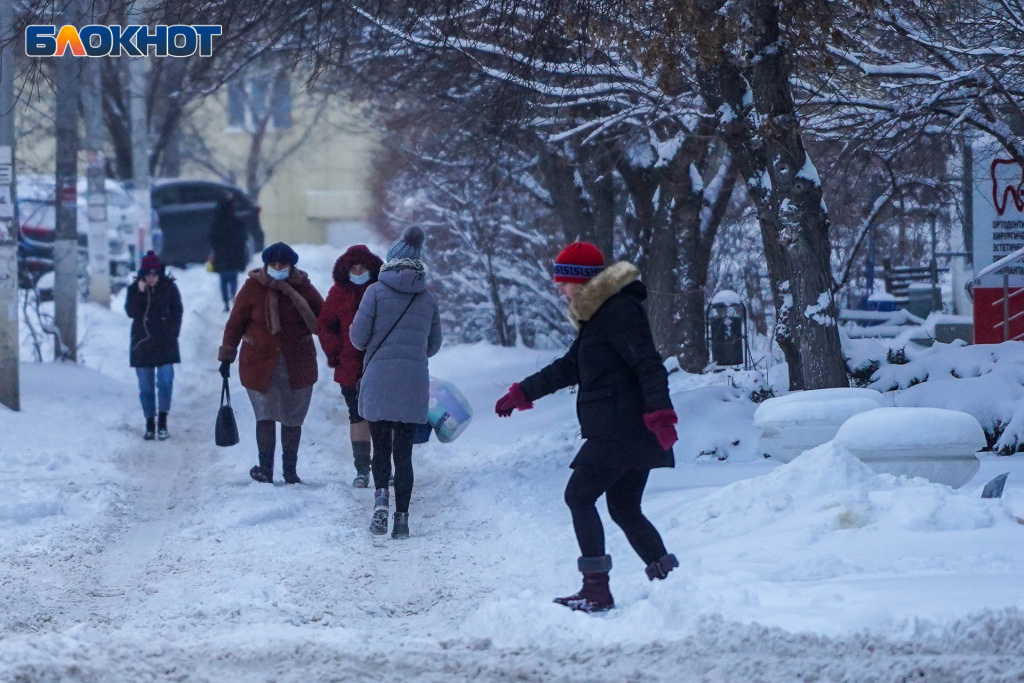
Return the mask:
[[[826,443],[854,415],[877,410],[873,389],[814,389],[769,398],[754,414],[761,430],[761,452],[787,463],[804,451]]]

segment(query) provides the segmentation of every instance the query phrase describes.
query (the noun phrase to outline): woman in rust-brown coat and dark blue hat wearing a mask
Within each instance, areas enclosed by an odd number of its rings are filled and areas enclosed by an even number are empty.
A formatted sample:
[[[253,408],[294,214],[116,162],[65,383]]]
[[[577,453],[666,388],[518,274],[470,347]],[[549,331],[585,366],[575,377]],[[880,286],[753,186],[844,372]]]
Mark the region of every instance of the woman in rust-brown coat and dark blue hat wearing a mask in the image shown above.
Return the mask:
[[[220,374],[230,375],[242,344],[239,378],[256,414],[259,464],[249,470],[256,481],[273,482],[273,452],[281,423],[281,464],[286,483],[301,483],[295,473],[302,422],[316,383],[316,316],[324,299],[309,275],[295,264],[299,255],[283,242],[263,251],[262,268],[249,271],[224,327],[217,353]]]

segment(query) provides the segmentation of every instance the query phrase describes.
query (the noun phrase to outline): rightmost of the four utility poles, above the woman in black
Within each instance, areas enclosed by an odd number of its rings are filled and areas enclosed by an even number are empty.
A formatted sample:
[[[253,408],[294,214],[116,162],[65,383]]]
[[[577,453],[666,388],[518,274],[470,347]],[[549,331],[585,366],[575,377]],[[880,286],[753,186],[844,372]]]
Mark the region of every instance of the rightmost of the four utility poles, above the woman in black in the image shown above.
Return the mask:
[[[128,16],[130,24],[145,26],[145,5],[142,0],[136,0]],[[145,31],[145,29],[142,29]],[[145,59],[128,57],[128,77],[130,91],[129,115],[131,117],[131,170],[132,197],[138,207],[138,238],[136,240],[136,265],[142,256],[153,249],[153,215],[150,199],[150,129],[145,111]]]

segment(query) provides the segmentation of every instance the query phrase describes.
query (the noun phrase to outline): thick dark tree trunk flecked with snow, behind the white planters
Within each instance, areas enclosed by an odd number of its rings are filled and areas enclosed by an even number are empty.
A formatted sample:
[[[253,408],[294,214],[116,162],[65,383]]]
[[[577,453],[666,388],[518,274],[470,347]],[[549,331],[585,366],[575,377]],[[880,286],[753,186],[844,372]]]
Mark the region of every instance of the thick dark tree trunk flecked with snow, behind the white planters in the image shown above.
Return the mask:
[[[790,388],[847,386],[831,297],[828,214],[800,134],[788,46],[771,0],[756,0],[751,19],[753,66],[740,71],[725,46],[705,44],[700,89],[722,117],[723,139],[758,211]],[[716,40],[714,32],[709,39]]]

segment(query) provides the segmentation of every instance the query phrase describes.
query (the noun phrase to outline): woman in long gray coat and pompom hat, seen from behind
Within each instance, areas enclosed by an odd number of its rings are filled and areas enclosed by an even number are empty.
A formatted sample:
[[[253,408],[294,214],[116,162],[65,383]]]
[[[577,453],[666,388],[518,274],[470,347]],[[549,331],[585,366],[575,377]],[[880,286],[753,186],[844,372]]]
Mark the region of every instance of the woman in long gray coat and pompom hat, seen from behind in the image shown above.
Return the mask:
[[[427,358],[441,346],[437,301],[426,291],[420,260],[423,230],[410,227],[388,251],[379,280],[367,288],[348,336],[366,350],[359,384],[359,415],[370,422],[374,445],[374,514],[370,530],[387,533],[388,479],[394,458],[394,525],[391,537],[409,538],[413,496],[413,438],[427,421],[430,376]]]

